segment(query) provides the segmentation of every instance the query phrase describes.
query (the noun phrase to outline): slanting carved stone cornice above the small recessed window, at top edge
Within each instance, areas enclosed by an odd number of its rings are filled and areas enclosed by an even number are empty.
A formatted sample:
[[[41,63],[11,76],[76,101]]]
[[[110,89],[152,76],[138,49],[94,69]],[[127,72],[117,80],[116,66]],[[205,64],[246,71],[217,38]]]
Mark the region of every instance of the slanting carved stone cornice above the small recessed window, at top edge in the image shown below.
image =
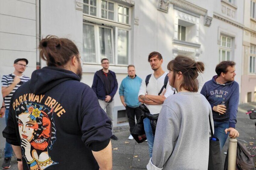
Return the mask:
[[[161,0],[159,0],[159,2],[160,1]],[[167,1],[167,0],[165,0],[165,1]],[[170,4],[173,4],[175,6],[183,8],[183,9],[185,9],[187,11],[191,11],[191,12],[193,12],[195,14],[199,14],[199,15],[205,16],[206,12],[207,12],[206,9],[201,8],[201,7],[199,7],[197,5],[194,5],[194,4],[190,3],[190,2],[187,2],[185,0],[168,0],[168,1],[169,1]]]

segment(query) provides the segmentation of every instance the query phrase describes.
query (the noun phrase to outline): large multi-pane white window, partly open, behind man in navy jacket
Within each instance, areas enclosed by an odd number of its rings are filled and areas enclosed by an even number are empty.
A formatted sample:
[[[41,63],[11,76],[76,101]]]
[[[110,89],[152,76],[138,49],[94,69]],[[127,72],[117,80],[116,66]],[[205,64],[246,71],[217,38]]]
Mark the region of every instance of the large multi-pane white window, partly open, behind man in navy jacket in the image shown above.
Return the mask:
[[[107,58],[110,65],[128,65],[131,7],[108,0],[84,0],[84,7],[91,4],[98,10],[96,18],[84,10],[83,61],[101,64],[101,59]]]

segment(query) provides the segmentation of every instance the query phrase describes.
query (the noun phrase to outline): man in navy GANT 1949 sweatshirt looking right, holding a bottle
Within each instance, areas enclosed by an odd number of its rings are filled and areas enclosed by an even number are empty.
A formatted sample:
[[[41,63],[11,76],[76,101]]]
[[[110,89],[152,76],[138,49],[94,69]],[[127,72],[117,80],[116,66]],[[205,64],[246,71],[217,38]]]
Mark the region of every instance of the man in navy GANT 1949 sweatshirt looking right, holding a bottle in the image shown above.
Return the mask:
[[[235,62],[222,61],[215,69],[217,75],[203,85],[201,94],[209,101],[213,110],[214,136],[224,146],[229,132],[230,138],[239,136],[235,130],[239,101],[239,85],[234,81]]]

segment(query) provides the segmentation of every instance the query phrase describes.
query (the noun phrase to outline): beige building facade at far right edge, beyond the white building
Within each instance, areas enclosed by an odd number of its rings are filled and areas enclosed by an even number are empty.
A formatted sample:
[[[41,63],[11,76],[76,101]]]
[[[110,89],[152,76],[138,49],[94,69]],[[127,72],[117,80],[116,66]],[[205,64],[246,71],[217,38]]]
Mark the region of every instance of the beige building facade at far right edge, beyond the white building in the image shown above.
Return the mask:
[[[250,7],[250,9],[248,9]],[[256,1],[245,0],[241,102],[256,101]]]

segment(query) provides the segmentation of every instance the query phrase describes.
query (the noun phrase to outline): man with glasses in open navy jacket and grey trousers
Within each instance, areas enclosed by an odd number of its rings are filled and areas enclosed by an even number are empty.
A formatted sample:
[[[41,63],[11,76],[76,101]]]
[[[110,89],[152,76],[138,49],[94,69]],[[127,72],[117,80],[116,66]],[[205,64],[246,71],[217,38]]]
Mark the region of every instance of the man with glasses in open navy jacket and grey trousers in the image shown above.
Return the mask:
[[[91,88],[97,95],[101,108],[106,110],[107,116],[112,120],[113,127],[113,100],[118,87],[117,77],[113,71],[108,70],[109,60],[107,58],[103,58],[101,60],[101,66],[102,69],[96,71],[94,74]],[[112,135],[111,139],[118,140],[114,134]]]

